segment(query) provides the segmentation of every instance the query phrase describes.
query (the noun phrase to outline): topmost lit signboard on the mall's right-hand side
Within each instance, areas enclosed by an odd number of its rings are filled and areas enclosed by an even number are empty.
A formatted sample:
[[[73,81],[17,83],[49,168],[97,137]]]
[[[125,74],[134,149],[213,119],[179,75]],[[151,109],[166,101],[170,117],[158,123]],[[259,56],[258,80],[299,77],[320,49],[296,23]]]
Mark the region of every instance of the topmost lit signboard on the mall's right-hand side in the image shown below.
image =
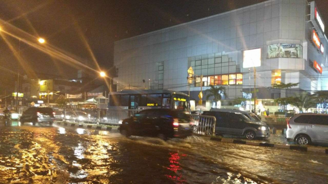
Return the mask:
[[[310,20],[314,28],[318,31],[320,37],[325,37],[325,23],[322,20],[322,16],[320,15],[316,3],[312,1],[310,2],[310,4],[311,4]]]

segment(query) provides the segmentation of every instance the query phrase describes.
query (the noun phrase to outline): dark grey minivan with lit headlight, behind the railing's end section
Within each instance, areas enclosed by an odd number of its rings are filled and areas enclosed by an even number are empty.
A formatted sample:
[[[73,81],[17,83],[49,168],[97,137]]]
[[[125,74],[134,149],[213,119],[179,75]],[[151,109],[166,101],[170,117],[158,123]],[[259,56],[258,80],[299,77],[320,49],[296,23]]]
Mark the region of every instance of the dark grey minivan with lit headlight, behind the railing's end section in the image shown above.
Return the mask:
[[[239,112],[205,111],[203,115],[217,119],[215,133],[243,135],[246,139],[270,137],[270,128],[264,122],[255,122]]]

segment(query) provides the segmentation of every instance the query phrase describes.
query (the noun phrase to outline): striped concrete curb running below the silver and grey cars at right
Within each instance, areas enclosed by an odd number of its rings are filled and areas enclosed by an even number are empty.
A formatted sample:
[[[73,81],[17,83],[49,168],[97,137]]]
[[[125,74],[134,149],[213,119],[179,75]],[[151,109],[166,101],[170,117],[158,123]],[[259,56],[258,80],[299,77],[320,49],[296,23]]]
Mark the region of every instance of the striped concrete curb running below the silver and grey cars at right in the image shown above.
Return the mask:
[[[272,144],[266,142],[254,142],[254,141],[244,141],[244,140],[216,138],[216,137],[203,137],[203,136],[202,138],[209,141],[216,141],[216,142],[223,142],[223,143],[245,144],[245,145],[259,146],[259,147],[283,148],[289,150],[298,150],[302,152],[315,152],[315,153],[328,154],[328,149],[321,148],[321,147],[299,146],[299,145],[289,145],[289,144]]]

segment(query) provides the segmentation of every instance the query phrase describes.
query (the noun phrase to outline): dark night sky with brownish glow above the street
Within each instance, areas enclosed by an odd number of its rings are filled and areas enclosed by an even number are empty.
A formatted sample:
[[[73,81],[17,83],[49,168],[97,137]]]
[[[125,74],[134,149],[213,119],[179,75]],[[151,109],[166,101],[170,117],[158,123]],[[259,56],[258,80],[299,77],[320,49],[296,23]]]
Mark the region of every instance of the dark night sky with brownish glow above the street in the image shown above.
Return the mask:
[[[95,70],[98,67],[94,61],[100,68],[109,70],[114,41],[262,1],[265,0],[0,0],[0,23],[36,38],[43,37],[47,44]],[[328,0],[315,1],[328,25]],[[12,86],[18,71],[24,72],[11,50],[18,52],[18,39],[7,34],[5,38],[7,42],[0,37],[2,89],[8,84]],[[47,73],[58,78],[76,78],[77,69],[82,67],[51,58],[22,42],[20,48],[25,70],[29,66],[36,75]],[[91,69],[87,71],[96,74]]]

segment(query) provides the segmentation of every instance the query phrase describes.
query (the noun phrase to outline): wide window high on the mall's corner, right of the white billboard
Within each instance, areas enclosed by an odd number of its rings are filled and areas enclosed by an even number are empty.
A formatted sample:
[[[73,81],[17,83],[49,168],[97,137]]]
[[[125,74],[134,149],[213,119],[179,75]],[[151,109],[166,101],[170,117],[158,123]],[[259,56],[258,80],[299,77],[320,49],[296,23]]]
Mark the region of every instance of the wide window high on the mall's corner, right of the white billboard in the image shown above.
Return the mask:
[[[303,48],[300,44],[268,45],[267,59],[271,58],[302,58]]]

